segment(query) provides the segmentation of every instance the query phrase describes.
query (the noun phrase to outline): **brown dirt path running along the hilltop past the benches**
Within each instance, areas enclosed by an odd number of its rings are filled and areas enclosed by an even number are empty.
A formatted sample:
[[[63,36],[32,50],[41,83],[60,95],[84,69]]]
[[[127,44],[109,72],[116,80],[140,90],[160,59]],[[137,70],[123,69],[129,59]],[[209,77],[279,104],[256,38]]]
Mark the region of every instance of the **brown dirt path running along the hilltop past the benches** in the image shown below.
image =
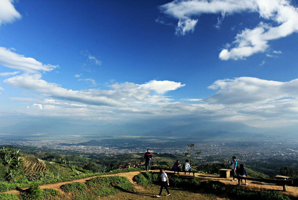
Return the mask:
[[[158,170],[155,170],[158,171]],[[140,173],[144,173],[145,171],[133,171],[133,172],[126,172],[126,173],[118,173],[118,174],[107,174],[107,175],[102,175],[102,176],[125,176],[129,182],[133,183],[133,177],[140,174]],[[166,171],[167,172],[167,171]],[[169,174],[171,172],[168,172]],[[179,176],[192,176],[192,175],[184,175],[182,173],[179,174]],[[60,193],[64,193],[61,189],[60,186],[64,185],[66,183],[71,183],[71,182],[82,182],[82,183],[86,183],[87,180],[94,178],[97,176],[92,176],[92,177],[88,177],[88,178],[83,178],[83,179],[76,179],[73,181],[67,181],[67,182],[59,182],[59,183],[53,183],[53,184],[47,184],[47,185],[40,185],[41,189],[45,189],[45,188],[52,188],[55,190],[60,191]],[[215,175],[211,175],[211,174],[199,174],[196,173],[195,177],[197,177],[198,179],[201,180],[219,180],[220,182],[226,184],[226,185],[237,185],[238,181],[234,181],[232,182],[232,178],[231,179],[224,179],[224,178],[219,178],[219,176],[215,176]],[[257,181],[247,181],[247,183],[249,185],[245,185],[244,187],[247,187],[249,190],[256,190],[256,191],[263,191],[263,190],[278,190],[284,194],[287,195],[293,195],[298,197],[298,188],[297,187],[291,187],[291,186],[287,186],[287,191],[284,192],[283,191],[283,186],[279,186],[279,185],[275,185],[275,184],[269,184],[269,183],[262,183],[262,182],[257,182]],[[135,188],[138,188],[138,185],[134,184]],[[22,191],[26,190],[27,188],[22,188],[20,190],[10,190],[7,191],[6,193],[21,193]]]

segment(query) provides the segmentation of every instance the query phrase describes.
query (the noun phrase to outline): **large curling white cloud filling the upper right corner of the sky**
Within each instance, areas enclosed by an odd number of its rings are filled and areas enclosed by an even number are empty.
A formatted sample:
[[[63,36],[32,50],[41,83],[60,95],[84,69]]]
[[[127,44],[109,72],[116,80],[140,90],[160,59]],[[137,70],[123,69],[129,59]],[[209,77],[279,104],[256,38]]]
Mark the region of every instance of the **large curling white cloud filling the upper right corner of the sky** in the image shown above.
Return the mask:
[[[226,15],[240,12],[258,12],[259,24],[246,28],[235,36],[219,53],[221,60],[245,59],[252,54],[268,49],[268,42],[286,37],[298,31],[298,9],[287,0],[175,0],[160,6],[163,13],[177,18],[176,35],[185,35],[195,30],[198,17],[203,14],[221,14],[218,28]]]

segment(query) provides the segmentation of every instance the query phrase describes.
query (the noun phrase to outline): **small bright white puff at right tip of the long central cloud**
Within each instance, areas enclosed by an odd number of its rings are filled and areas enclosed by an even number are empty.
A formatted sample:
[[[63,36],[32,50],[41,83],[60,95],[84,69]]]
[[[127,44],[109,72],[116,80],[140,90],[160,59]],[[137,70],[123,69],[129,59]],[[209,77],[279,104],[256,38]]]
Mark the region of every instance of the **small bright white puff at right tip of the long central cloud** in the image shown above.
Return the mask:
[[[181,83],[173,82],[173,81],[156,81],[152,80],[145,84],[140,85],[145,89],[155,90],[157,93],[163,94],[169,90],[176,90],[179,87],[185,86],[185,84],[181,85]]]

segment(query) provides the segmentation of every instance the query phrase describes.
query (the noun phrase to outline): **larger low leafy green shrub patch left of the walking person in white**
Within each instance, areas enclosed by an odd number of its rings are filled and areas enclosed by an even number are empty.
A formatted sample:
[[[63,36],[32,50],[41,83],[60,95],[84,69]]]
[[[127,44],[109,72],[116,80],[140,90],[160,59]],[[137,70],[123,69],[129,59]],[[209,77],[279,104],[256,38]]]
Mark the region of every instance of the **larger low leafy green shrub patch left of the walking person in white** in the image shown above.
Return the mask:
[[[87,186],[97,196],[108,196],[134,189],[128,179],[123,176],[98,176],[87,180]]]

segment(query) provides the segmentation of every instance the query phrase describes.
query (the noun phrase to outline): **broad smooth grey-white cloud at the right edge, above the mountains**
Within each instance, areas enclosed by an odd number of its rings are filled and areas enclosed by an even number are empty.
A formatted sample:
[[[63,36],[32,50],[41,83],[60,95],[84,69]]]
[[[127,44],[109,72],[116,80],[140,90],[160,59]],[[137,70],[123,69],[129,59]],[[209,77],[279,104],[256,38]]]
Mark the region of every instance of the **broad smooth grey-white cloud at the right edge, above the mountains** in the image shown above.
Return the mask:
[[[278,82],[239,77],[217,80],[208,88],[219,90],[217,94],[203,100],[210,104],[252,104],[298,98],[298,79]]]

